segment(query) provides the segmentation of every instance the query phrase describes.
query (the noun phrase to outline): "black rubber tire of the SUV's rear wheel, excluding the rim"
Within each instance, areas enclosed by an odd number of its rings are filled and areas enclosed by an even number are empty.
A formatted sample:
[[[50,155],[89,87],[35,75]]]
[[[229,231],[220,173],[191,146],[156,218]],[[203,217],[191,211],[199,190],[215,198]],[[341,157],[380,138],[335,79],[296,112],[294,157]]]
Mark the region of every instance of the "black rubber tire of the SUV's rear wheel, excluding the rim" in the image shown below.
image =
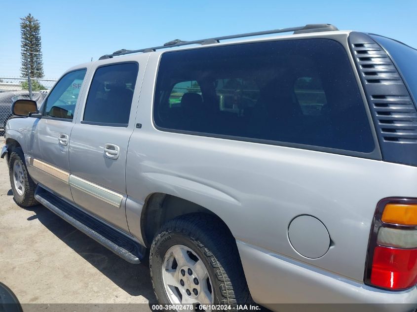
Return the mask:
[[[166,252],[179,244],[190,248],[205,265],[215,305],[231,306],[231,311],[236,311],[237,305],[253,304],[236,241],[218,218],[194,213],[168,221],[153,239],[149,263],[160,304],[173,304],[163,284],[162,270]]]

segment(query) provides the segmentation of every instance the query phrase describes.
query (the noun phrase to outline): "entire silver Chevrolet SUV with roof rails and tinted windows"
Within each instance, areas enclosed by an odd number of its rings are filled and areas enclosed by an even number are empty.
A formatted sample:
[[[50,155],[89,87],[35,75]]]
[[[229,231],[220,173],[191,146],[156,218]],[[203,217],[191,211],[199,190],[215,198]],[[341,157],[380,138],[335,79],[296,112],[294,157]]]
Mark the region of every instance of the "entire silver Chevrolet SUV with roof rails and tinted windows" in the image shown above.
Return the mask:
[[[416,72],[328,24],[123,49],[16,101],[1,157],[18,205],[149,255],[159,308],[415,311]]]

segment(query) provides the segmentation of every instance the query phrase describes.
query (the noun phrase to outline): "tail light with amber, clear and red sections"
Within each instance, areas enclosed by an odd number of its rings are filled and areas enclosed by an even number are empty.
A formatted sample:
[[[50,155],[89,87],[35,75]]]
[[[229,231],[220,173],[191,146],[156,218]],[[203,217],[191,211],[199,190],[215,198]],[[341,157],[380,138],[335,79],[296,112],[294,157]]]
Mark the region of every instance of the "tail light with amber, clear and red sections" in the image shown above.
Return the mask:
[[[391,290],[416,285],[417,224],[410,224],[414,222],[410,213],[417,213],[416,204],[417,199],[398,198],[378,203],[368,247],[365,283]]]

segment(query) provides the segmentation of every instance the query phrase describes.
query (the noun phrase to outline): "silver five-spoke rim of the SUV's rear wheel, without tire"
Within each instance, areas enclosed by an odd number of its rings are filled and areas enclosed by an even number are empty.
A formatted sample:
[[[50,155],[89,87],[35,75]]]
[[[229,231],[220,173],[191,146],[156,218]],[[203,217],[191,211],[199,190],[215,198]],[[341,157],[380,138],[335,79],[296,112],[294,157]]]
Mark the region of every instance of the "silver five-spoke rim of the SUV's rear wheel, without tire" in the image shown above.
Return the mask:
[[[167,250],[162,281],[171,304],[207,305],[214,302],[213,287],[203,261],[185,245]],[[206,310],[209,311],[209,310]]]

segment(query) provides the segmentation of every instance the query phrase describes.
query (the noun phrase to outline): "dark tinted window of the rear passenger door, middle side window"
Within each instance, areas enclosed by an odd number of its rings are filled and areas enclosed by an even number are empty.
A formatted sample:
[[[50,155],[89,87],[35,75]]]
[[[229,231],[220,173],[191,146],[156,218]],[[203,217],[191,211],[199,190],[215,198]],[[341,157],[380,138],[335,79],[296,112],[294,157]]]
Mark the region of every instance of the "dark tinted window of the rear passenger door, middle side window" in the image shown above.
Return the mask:
[[[138,69],[137,63],[98,68],[88,91],[83,122],[127,126]]]

